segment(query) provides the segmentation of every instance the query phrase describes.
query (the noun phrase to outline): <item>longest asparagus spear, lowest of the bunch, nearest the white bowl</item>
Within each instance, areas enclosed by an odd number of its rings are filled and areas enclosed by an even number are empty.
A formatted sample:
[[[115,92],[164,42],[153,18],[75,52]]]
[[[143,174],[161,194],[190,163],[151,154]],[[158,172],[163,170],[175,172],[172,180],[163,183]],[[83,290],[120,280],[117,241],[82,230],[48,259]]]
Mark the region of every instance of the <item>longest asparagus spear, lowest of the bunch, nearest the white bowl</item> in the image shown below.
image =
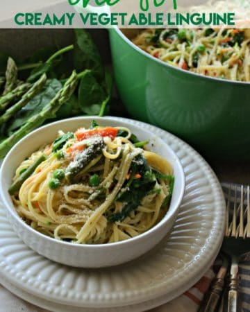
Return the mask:
[[[50,103],[44,106],[42,111],[35,116],[32,116],[28,121],[17,131],[15,131],[10,137],[5,139],[0,144],[0,158],[4,157],[8,150],[17,143],[19,139],[22,139],[28,132],[38,128],[46,119],[51,117],[52,114],[57,112],[63,103],[69,100],[74,93],[78,82],[76,71],[73,71],[72,76],[69,77],[62,89],[58,91],[56,96],[51,100]]]

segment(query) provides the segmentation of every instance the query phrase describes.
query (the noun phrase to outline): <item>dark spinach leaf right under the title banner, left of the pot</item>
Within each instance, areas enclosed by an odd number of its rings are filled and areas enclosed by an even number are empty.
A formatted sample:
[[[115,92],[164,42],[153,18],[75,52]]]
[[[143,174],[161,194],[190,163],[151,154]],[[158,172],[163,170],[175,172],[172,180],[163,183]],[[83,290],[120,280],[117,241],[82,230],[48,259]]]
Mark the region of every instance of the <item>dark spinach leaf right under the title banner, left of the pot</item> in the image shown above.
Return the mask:
[[[103,64],[101,55],[94,44],[90,33],[84,29],[75,29],[76,43],[74,44],[74,68],[81,72],[92,69],[94,76],[103,78]]]

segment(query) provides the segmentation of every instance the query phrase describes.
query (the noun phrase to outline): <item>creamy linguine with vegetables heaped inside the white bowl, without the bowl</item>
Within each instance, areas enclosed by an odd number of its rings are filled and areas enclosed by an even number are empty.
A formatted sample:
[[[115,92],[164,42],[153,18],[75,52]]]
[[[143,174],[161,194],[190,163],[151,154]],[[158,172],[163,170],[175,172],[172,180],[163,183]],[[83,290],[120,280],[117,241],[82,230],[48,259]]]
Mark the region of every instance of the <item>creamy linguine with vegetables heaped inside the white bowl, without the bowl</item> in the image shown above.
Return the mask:
[[[59,134],[17,168],[9,189],[28,225],[74,243],[114,243],[156,225],[169,207],[169,163],[127,128]]]

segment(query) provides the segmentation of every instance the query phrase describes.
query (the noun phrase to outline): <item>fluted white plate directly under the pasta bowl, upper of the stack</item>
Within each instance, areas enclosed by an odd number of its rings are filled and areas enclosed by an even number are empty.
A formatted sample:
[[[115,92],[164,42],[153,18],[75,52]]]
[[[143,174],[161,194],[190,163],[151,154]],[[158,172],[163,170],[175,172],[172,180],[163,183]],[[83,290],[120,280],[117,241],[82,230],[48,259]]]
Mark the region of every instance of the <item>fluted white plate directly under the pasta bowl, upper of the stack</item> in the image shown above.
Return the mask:
[[[26,247],[1,209],[2,278],[24,292],[51,302],[107,308],[140,306],[149,300],[157,306],[163,303],[161,300],[167,302],[181,295],[206,272],[219,251],[224,234],[225,202],[217,177],[201,156],[180,139],[146,123],[126,121],[160,136],[183,164],[185,196],[169,236],[148,254],[122,266],[98,270],[70,268]]]

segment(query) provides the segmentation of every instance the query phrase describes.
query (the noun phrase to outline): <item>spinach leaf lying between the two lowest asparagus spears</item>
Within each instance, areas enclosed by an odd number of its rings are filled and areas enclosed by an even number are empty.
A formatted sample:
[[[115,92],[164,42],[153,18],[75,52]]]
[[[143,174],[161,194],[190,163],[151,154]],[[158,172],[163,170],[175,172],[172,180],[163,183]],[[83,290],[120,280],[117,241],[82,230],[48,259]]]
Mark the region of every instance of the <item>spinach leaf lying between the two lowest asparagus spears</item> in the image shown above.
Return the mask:
[[[62,88],[60,81],[56,79],[47,80],[47,83],[42,88],[40,94],[35,96],[31,101],[28,102],[26,106],[20,110],[15,119],[12,119],[8,124],[8,135],[11,135],[15,130],[24,125],[31,116],[38,114],[42,108],[47,105],[57,94],[57,92]],[[54,118],[52,116],[51,118]]]

